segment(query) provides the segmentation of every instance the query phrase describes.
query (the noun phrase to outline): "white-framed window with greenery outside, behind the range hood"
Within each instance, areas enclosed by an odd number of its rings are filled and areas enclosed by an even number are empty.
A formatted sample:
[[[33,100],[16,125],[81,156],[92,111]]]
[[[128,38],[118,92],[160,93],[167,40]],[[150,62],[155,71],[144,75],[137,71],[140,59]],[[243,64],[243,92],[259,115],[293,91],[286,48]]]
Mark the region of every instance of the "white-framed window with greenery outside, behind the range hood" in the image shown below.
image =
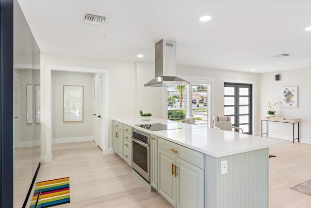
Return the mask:
[[[196,125],[210,127],[210,88],[211,84],[206,80],[168,86],[168,119],[182,122],[184,118],[194,117]]]

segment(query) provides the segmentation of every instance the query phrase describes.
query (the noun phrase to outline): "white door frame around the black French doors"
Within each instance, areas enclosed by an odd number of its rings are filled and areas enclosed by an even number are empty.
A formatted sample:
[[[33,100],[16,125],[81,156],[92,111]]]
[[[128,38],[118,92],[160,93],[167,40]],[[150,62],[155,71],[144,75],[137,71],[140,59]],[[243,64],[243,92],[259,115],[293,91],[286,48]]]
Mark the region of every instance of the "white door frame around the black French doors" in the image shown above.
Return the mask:
[[[255,114],[255,107],[254,107],[254,103],[256,103],[255,97],[257,97],[256,95],[256,82],[255,81],[250,81],[250,80],[234,80],[234,79],[222,79],[222,115],[224,114],[224,87],[225,87],[225,83],[234,83],[234,84],[251,84],[252,85],[252,135],[255,135],[255,118],[257,117],[257,115]]]

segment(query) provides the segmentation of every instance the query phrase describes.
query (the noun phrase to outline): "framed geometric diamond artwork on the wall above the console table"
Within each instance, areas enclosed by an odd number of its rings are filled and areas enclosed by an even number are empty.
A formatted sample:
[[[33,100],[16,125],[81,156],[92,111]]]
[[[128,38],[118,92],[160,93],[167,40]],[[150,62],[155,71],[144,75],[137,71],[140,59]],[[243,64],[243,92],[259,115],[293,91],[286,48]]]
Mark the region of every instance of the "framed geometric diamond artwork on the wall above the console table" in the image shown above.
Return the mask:
[[[281,87],[282,107],[298,107],[298,86]]]

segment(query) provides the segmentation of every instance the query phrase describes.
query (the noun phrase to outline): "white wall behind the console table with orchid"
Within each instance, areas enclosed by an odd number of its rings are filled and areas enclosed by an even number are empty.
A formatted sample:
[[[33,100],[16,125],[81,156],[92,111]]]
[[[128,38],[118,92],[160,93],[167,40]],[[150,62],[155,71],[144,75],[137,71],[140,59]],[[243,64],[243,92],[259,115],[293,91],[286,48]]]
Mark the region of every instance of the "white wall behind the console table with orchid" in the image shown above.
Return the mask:
[[[281,75],[281,80],[276,81],[275,75]],[[311,67],[287,71],[279,71],[274,73],[265,73],[259,75],[259,109],[260,115],[265,115],[269,110],[265,105],[266,101],[280,102],[281,87],[298,86],[298,108],[281,107],[278,105],[276,116],[297,117],[300,118],[300,138],[302,142],[311,143],[311,118],[310,118],[310,103],[311,103]],[[260,124],[259,127],[260,129]],[[265,129],[264,129],[265,130]],[[297,127],[295,132],[297,133]],[[284,123],[269,123],[269,136],[292,140],[293,125]],[[297,134],[295,134],[295,137]],[[297,141],[297,140],[296,140]]]

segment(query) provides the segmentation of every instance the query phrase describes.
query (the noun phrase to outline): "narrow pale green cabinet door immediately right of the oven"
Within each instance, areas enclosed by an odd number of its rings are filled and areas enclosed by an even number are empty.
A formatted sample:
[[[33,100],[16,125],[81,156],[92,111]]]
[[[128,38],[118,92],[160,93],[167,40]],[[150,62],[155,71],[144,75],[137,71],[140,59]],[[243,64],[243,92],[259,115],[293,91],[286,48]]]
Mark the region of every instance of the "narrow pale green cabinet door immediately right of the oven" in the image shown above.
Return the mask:
[[[157,190],[157,136],[150,135],[150,185]]]

